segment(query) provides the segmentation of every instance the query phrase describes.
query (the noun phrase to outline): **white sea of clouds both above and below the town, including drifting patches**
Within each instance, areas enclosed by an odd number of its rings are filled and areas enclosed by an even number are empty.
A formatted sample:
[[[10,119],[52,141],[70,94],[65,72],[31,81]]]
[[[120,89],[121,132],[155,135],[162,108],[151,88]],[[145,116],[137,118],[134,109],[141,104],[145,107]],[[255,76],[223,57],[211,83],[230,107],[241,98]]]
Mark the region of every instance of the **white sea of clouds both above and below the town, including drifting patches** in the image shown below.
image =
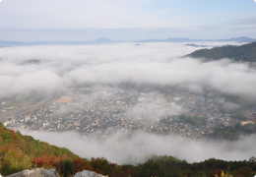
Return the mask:
[[[224,42],[200,43],[208,48]],[[44,45],[0,48],[0,98],[28,93],[66,89],[74,84],[155,85],[181,87],[193,92],[219,91],[256,98],[256,70],[248,63],[224,58],[217,61],[193,59],[185,55],[202,47],[185,43],[119,43],[111,45]],[[39,63],[28,63],[36,59]],[[102,89],[102,88],[101,88]],[[105,90],[110,88],[104,88]],[[116,88],[115,88],[116,90]],[[83,95],[82,95],[83,97]],[[100,98],[98,92],[85,95],[84,102]],[[92,100],[91,100],[92,99]],[[164,108],[164,98],[156,92],[140,97],[126,117],[160,117],[181,112],[182,107]],[[140,105],[139,105],[140,104]],[[239,107],[225,102],[224,108]],[[151,122],[151,119],[148,121]],[[155,119],[154,119],[155,121]],[[49,144],[69,148],[82,157],[104,156],[112,162],[138,163],[152,153],[173,155],[189,162],[210,157],[243,160],[255,155],[255,136],[238,142],[199,142],[160,138],[139,133],[133,139],[115,133],[105,141],[84,139],[75,133],[23,132]]]

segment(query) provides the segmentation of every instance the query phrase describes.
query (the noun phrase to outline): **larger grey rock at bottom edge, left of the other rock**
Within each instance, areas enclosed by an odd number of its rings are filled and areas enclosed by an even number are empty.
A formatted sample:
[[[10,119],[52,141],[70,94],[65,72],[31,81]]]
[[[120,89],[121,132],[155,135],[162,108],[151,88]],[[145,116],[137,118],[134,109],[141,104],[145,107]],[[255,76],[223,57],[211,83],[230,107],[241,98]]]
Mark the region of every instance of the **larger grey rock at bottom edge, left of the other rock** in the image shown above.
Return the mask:
[[[32,170],[23,170],[7,177],[59,177],[59,175],[55,169],[45,170],[43,168],[36,168]]]

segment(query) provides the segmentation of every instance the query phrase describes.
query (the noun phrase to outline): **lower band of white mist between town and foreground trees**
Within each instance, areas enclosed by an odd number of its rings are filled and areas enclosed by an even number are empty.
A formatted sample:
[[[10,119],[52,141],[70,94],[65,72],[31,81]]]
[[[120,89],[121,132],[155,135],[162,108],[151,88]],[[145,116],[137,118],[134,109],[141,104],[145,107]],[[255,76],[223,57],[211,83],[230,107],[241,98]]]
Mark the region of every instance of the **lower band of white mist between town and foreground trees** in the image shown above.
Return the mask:
[[[144,162],[152,154],[172,155],[188,162],[199,162],[212,157],[224,160],[248,160],[256,153],[256,136],[241,137],[237,142],[200,142],[144,133],[138,133],[134,138],[127,139],[120,136],[123,132],[117,132],[104,140],[98,140],[94,137],[85,139],[79,134],[69,132],[22,132],[51,145],[69,148],[81,157],[103,156],[118,164]]]

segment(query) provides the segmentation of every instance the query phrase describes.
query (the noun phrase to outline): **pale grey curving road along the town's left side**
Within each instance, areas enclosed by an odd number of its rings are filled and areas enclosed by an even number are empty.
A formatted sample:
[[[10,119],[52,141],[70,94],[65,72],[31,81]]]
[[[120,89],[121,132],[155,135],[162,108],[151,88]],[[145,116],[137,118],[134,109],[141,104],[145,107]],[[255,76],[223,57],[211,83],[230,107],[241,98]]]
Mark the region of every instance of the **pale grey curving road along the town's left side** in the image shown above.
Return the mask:
[[[46,95],[46,97],[44,97],[44,98],[43,98],[41,101],[39,101],[37,104],[32,105],[32,106],[29,106],[29,107],[25,107],[25,108],[23,108],[23,109],[20,109],[20,110],[18,110],[18,111],[12,112],[12,113],[7,114],[7,115],[5,115],[5,116],[0,116],[0,120],[6,119],[6,118],[11,117],[11,116],[14,116],[14,115],[22,114],[22,113],[27,112],[27,111],[29,111],[29,110],[32,110],[32,109],[34,109],[34,108],[36,108],[36,107],[39,107],[39,106],[45,104],[46,102],[48,102],[50,99],[52,99],[52,97],[54,96],[54,93],[55,93],[54,91],[50,91],[50,92],[48,92],[48,94]]]

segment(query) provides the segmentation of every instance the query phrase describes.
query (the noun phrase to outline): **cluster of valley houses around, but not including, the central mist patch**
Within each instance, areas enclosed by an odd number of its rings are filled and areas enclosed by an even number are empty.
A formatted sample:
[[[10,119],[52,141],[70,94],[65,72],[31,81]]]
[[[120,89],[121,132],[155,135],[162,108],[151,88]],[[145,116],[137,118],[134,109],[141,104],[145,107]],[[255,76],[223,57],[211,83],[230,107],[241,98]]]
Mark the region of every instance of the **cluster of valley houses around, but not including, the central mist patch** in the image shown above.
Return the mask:
[[[85,137],[97,135],[105,137],[116,131],[125,132],[127,136],[145,132],[158,134],[163,137],[191,137],[201,141],[211,139],[214,127],[222,127],[237,123],[231,114],[224,114],[219,103],[213,97],[205,97],[185,91],[171,89],[147,88],[141,91],[133,89],[93,90],[84,94],[85,89],[76,89],[76,98],[69,101],[52,101],[40,106],[32,112],[8,118],[4,125],[10,129],[29,129],[32,131],[75,131]],[[89,90],[88,88],[86,90]],[[157,92],[164,97],[165,108],[179,105],[182,112],[166,113],[156,117],[154,122],[147,118],[127,117],[127,112],[138,106],[140,99]],[[65,96],[64,93],[62,96]],[[66,96],[67,97],[67,96]],[[221,99],[222,101],[222,99]],[[255,113],[255,109],[251,109]],[[191,125],[182,122],[179,115],[202,117],[206,119],[205,125]],[[162,122],[161,119],[167,119]],[[129,134],[127,134],[129,132]]]

